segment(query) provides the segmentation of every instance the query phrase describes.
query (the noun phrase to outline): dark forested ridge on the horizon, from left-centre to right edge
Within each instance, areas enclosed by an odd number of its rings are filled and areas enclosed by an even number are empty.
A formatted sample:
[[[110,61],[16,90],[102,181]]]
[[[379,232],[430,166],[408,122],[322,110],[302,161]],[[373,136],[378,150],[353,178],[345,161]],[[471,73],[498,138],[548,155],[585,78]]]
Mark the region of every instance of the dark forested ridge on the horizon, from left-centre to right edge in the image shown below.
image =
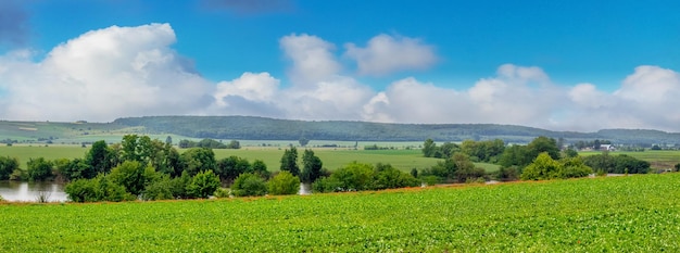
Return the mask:
[[[604,129],[596,132],[552,131],[498,124],[387,124],[348,121],[291,121],[254,116],[146,116],[115,119],[112,124],[142,126],[153,134],[176,134],[193,138],[241,140],[349,141],[463,141],[503,139],[529,142],[538,136],[565,140],[606,139],[616,143],[680,143],[680,134],[646,129]]]

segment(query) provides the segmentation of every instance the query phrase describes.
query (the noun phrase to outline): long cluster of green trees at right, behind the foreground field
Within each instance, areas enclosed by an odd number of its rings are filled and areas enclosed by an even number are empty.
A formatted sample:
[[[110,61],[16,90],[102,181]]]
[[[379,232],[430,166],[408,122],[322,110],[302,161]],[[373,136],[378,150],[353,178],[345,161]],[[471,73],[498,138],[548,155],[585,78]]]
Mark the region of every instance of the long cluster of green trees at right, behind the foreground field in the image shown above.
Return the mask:
[[[432,139],[423,143],[425,157],[443,159],[437,165],[419,172],[427,181],[464,182],[487,180],[542,180],[555,178],[584,177],[593,173],[644,174],[650,170],[650,163],[628,156],[599,155],[581,157],[571,148],[563,149],[561,141],[549,137],[538,137],[526,146],[506,146],[503,140],[474,141],[462,143],[444,142],[437,146]],[[608,141],[594,140],[578,142],[579,146],[605,144]],[[473,162],[500,165],[498,173],[488,175],[475,167]],[[418,170],[413,173],[418,174]]]

